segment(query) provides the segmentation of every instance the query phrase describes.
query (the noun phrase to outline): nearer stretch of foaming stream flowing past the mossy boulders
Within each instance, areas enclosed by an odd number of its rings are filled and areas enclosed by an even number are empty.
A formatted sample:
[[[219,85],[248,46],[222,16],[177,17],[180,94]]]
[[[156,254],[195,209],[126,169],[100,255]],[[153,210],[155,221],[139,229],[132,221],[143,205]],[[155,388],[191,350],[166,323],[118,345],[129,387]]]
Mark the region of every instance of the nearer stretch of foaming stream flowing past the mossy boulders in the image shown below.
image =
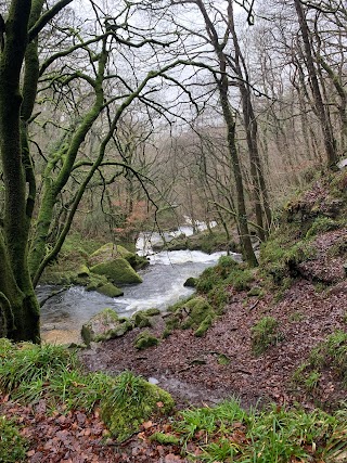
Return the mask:
[[[208,255],[200,250],[164,250],[155,254],[151,245],[159,239],[152,234],[150,242],[145,234],[140,236],[138,252],[147,256],[150,266],[139,271],[143,283],[123,287],[124,296],[111,298],[74,286],[51,297],[41,308],[42,339],[57,344],[80,343],[81,325],[106,307],[125,317],[153,307],[165,311],[168,306],[194,292],[193,288],[183,286],[189,276],[198,276],[226,254],[220,252]],[[233,256],[241,261],[241,255]],[[39,300],[48,297],[54,290],[59,288],[38,286]]]

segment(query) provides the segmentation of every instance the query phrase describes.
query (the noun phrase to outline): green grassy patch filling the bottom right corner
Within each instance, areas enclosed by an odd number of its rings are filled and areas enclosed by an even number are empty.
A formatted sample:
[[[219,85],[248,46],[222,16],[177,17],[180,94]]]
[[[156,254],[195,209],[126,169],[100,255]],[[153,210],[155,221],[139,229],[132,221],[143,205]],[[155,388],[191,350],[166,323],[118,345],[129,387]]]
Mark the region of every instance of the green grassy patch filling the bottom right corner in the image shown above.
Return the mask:
[[[198,461],[207,463],[333,462],[347,446],[344,414],[281,407],[246,412],[236,400],[185,410],[174,427],[183,443],[193,441],[202,450]]]

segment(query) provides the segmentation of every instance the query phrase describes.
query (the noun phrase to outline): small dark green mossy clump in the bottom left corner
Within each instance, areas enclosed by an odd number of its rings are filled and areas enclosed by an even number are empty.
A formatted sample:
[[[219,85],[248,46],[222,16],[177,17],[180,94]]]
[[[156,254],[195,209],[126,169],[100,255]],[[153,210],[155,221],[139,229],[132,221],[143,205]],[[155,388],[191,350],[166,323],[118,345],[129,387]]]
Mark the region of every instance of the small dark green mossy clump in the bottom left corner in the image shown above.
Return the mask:
[[[26,441],[20,428],[7,416],[0,416],[0,462],[17,463],[26,461]]]

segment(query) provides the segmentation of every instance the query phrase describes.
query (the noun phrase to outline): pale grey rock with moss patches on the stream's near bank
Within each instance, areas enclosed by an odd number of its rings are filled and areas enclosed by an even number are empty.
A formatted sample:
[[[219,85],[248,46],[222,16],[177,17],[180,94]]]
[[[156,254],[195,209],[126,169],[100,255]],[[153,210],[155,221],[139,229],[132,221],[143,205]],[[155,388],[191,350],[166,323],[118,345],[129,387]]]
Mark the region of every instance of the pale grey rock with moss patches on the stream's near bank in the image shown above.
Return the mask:
[[[81,336],[89,346],[91,342],[98,343],[123,336],[131,329],[132,324],[127,319],[119,318],[112,309],[104,309],[82,325]]]

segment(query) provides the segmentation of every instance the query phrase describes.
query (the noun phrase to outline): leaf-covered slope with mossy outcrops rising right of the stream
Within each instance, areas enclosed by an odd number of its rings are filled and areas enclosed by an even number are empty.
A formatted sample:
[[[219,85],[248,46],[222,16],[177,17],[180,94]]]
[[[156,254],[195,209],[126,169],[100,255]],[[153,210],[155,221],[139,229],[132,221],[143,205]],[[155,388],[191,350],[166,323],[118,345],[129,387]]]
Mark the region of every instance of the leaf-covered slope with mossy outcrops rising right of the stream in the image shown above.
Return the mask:
[[[90,370],[129,369],[155,377],[181,404],[235,395],[245,406],[333,407],[345,397],[347,378],[346,191],[345,170],[321,177],[286,205],[253,281],[242,291],[224,284],[228,303],[203,337],[177,329],[139,351],[137,329],[86,351],[82,361]],[[275,324],[272,334],[265,333],[269,347],[257,353],[257,330],[266,332],[269,318]],[[160,336],[163,323],[150,332]],[[327,338],[338,361],[320,345]],[[320,351],[310,358],[317,346]]]

